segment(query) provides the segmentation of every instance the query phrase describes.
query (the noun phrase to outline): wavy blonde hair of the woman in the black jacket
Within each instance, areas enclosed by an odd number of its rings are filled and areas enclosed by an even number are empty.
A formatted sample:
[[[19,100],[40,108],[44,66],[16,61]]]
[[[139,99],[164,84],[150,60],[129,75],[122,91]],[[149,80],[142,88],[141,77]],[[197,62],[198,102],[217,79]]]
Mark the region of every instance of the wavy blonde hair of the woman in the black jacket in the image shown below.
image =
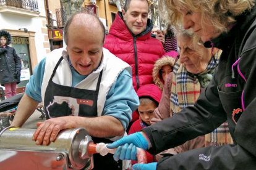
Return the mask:
[[[192,12],[202,12],[202,26],[211,23],[216,32],[223,33],[227,26],[236,22],[234,17],[241,15],[245,10],[250,10],[254,6],[255,0],[176,0],[181,7]],[[161,1],[161,7],[165,5],[168,17],[172,25],[182,23],[182,14],[177,10],[173,0]]]

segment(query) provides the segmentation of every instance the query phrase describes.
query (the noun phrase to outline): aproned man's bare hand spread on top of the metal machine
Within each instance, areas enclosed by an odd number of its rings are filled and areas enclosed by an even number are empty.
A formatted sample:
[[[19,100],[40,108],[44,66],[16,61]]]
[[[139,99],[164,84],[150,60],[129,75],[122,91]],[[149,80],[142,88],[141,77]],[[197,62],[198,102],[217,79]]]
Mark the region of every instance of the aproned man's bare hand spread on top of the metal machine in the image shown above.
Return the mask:
[[[32,137],[32,140],[36,140],[36,145],[48,145],[56,139],[59,131],[75,127],[70,123],[70,116],[51,118],[36,125],[38,127]]]

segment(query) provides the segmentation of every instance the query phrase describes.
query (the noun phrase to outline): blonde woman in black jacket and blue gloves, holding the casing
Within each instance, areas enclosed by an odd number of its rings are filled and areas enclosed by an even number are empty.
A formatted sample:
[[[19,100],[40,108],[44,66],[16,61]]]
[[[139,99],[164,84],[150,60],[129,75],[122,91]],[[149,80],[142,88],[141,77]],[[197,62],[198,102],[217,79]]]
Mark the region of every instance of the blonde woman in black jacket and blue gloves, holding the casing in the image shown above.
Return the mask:
[[[256,169],[256,9],[254,0],[166,0],[173,23],[182,22],[222,49],[218,69],[194,107],[117,140],[109,148],[133,143],[150,153],[176,147],[207,134],[228,120],[234,144],[205,147],[134,169]],[[125,147],[122,147],[125,150]],[[119,152],[117,149],[116,153]],[[122,152],[122,155],[134,152]],[[121,156],[122,156],[121,155]],[[127,156],[124,156],[126,158]]]

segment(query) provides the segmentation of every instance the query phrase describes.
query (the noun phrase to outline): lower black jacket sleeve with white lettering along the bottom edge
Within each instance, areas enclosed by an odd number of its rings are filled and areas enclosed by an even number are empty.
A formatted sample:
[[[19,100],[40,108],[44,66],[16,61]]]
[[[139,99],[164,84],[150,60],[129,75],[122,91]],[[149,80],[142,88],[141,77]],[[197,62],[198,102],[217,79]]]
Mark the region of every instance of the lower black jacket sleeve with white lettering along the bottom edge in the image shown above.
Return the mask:
[[[255,169],[255,157],[250,156],[240,145],[223,145],[206,147],[165,156],[156,169],[198,170],[198,169]]]

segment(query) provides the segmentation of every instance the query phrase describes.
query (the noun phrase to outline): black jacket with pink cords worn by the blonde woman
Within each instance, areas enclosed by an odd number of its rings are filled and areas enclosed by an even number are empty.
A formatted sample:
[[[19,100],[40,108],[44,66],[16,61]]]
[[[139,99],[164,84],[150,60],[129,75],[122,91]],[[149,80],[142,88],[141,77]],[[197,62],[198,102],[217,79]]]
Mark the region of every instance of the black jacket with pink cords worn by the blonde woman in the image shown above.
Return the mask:
[[[223,53],[213,79],[195,106],[142,129],[150,138],[149,152],[159,153],[207,134],[228,119],[234,144],[166,156],[157,169],[256,169],[255,13],[254,7],[236,18],[229,33],[212,39]]]

